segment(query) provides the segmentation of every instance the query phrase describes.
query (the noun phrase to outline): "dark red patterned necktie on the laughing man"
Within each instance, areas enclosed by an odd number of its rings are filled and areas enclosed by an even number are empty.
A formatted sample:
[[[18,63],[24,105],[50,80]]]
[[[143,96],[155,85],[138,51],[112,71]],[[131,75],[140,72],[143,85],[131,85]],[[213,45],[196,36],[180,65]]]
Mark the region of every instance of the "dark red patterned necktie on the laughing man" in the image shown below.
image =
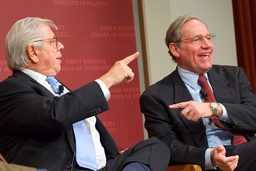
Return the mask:
[[[201,90],[203,90],[207,94],[207,96],[204,98],[204,102],[217,102],[212,93],[212,89],[207,83],[207,79],[205,78],[204,75],[199,75],[198,82],[202,85]],[[222,123],[216,116],[211,116],[210,118],[212,119],[212,122],[214,122],[216,126],[225,129],[225,127],[222,125]],[[247,142],[246,138],[242,134],[237,134],[234,132],[232,133],[234,135],[233,142],[232,142],[233,145],[238,145],[238,144]]]

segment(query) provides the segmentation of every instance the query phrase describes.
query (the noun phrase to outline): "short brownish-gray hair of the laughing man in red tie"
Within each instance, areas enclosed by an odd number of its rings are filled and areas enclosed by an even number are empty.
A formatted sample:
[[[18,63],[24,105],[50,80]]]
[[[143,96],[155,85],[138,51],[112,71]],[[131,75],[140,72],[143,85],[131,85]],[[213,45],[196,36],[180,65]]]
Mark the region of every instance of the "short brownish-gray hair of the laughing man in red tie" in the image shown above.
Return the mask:
[[[185,22],[188,22],[193,19],[198,20],[199,22],[202,22],[205,25],[205,23],[195,15],[183,15],[183,16],[177,17],[174,20],[174,22],[171,23],[171,25],[169,26],[166,32],[166,37],[165,37],[165,44],[168,48],[171,43],[176,42],[177,46],[182,49],[181,42],[180,42],[181,36],[182,36],[181,27]],[[172,54],[170,49],[168,53],[171,55],[172,61],[177,62],[176,57]]]

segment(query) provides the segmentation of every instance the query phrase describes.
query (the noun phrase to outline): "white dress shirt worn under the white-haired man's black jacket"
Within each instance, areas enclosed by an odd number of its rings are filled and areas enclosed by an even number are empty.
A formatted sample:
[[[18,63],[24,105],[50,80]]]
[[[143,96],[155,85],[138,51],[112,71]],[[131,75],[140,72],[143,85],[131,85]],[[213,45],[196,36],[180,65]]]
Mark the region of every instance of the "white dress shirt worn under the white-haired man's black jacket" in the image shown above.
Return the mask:
[[[35,72],[33,70],[28,69],[22,69],[22,72],[24,72],[26,75],[29,75],[33,79],[35,79],[38,83],[42,84],[45,88],[47,88],[50,92],[53,93],[54,96],[57,96],[56,92],[52,88],[52,86],[45,80],[47,76],[42,75],[38,72]],[[106,85],[99,79],[95,80],[100,87],[102,88],[102,92],[104,93],[104,96],[106,100],[108,101],[110,99],[110,91],[106,87]],[[60,83],[59,83],[60,84]],[[69,90],[64,87],[64,93],[68,93]],[[97,169],[101,169],[106,166],[106,155],[104,148],[102,147],[101,141],[100,141],[100,135],[97,131],[95,124],[96,124],[96,118],[95,116],[84,119],[84,123],[86,124],[88,131],[90,132],[90,135],[92,136],[94,148],[95,148],[95,155],[96,155],[96,164]],[[77,149],[79,150],[79,149]]]

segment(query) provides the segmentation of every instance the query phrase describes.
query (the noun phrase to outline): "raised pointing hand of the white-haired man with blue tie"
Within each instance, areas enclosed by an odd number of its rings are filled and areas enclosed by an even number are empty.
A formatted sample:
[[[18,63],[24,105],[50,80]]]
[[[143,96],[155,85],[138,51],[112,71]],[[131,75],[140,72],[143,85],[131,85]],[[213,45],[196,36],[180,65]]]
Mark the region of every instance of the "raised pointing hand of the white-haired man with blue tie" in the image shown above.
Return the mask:
[[[99,79],[102,80],[103,83],[105,83],[107,88],[115,86],[121,82],[130,83],[134,77],[134,73],[132,72],[132,69],[129,68],[127,65],[138,56],[139,53],[136,52],[122,59],[121,61],[115,62],[115,65]]]

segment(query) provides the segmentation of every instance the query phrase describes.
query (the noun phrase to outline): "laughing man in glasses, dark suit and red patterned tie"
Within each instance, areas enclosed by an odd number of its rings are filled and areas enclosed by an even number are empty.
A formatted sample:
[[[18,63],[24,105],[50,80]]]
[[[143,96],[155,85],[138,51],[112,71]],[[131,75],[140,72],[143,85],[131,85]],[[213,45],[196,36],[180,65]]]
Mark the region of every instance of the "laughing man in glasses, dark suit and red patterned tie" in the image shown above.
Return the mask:
[[[141,95],[145,127],[169,146],[170,165],[255,171],[256,96],[242,68],[212,65],[215,37],[196,16],[172,22],[177,69]]]

